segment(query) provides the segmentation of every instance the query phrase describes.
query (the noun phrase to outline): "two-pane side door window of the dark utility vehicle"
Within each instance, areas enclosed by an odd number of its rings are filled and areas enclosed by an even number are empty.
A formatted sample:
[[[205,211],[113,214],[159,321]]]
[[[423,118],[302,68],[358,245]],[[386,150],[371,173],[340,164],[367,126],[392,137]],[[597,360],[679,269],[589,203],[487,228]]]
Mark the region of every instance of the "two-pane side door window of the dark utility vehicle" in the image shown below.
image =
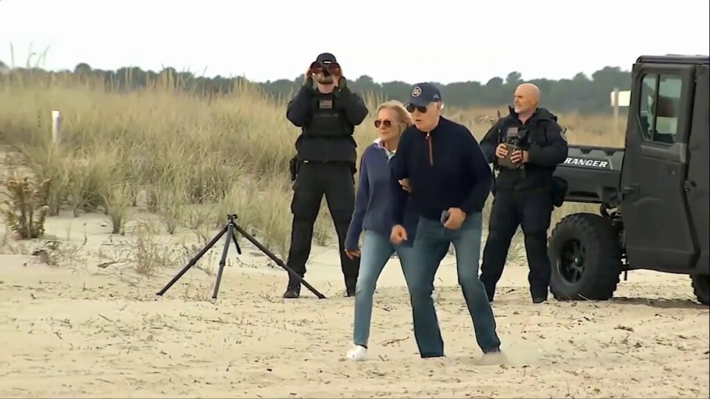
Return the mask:
[[[638,117],[646,140],[667,144],[675,142],[681,92],[680,77],[665,74],[643,77]]]

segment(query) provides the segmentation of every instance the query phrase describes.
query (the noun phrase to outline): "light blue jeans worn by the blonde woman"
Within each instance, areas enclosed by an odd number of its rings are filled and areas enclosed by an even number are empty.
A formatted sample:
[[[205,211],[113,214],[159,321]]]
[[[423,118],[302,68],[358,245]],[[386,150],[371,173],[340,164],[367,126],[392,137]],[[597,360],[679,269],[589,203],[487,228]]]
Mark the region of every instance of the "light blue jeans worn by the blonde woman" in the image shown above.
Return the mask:
[[[376,231],[365,231],[365,240],[360,258],[360,273],[355,285],[355,328],[353,343],[367,346],[372,319],[372,297],[377,279],[393,253],[397,252],[405,280],[406,269],[413,262],[413,248],[392,244],[389,236]]]

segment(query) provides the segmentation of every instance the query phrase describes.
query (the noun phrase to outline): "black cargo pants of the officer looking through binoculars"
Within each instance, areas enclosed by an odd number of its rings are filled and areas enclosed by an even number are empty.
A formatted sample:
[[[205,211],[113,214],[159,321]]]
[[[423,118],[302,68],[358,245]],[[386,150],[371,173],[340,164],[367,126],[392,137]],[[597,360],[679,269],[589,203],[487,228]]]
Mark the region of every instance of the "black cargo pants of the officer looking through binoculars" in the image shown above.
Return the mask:
[[[307,162],[300,165],[293,184],[293,226],[287,265],[301,277],[305,275],[313,225],[324,195],[338,236],[340,266],[345,285],[346,288],[354,289],[360,261],[359,258],[351,260],[345,253],[345,236],[355,208],[355,182],[349,163]],[[289,278],[289,285],[297,285],[297,281]]]

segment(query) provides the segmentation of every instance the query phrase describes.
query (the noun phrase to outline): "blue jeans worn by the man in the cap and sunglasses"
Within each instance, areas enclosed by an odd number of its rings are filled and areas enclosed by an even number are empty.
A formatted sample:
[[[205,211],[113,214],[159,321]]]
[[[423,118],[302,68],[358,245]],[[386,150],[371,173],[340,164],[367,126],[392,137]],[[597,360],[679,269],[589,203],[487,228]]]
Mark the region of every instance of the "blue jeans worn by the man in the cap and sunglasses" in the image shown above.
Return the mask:
[[[486,289],[479,280],[481,253],[480,213],[469,214],[459,229],[451,230],[441,222],[421,218],[414,242],[414,262],[408,280],[412,301],[414,334],[420,356],[444,356],[439,322],[432,300],[434,276],[451,243],[456,249],[459,285],[474,324],[476,342],[484,353],[496,351],[501,341],[496,334],[496,319],[488,302]]]

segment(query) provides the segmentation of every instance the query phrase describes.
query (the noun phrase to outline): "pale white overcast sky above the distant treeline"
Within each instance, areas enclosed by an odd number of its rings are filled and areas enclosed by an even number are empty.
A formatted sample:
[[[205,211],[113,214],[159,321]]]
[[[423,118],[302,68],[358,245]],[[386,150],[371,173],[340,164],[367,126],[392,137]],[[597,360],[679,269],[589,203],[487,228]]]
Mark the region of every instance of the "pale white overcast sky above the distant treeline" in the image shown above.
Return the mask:
[[[200,4],[199,7],[197,5]],[[318,53],[346,77],[486,82],[629,70],[641,54],[704,54],[708,0],[0,0],[0,60],[293,79]],[[33,62],[34,63],[34,62]]]

